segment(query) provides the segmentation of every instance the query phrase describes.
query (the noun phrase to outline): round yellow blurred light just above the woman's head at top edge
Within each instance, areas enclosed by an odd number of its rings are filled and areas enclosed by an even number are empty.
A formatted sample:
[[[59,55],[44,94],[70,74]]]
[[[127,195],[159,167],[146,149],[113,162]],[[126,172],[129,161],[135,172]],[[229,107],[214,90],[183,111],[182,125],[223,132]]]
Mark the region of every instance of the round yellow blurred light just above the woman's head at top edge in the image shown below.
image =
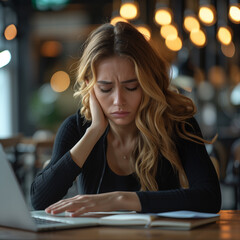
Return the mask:
[[[122,1],[120,15],[128,20],[136,19],[139,15],[139,7],[136,1]]]

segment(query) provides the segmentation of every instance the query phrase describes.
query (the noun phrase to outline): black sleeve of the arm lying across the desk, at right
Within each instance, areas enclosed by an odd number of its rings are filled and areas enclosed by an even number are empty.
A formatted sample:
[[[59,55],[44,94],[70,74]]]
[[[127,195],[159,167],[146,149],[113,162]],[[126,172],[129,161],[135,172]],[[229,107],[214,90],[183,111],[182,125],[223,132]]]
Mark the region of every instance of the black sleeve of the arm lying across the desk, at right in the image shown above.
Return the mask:
[[[187,126],[187,131],[202,137],[197,121],[192,118],[189,123],[192,127]],[[220,185],[205,146],[182,138],[177,140],[176,145],[189,188],[137,192],[142,212],[218,212],[221,208]]]

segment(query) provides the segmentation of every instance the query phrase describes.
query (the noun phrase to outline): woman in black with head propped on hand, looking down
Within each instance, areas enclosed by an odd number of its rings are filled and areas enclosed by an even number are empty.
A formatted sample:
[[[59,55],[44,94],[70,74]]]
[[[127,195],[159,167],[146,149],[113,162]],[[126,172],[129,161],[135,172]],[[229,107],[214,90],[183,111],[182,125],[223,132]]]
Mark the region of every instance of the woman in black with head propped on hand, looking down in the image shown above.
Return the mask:
[[[49,165],[31,187],[35,209],[218,212],[218,178],[192,101],[172,91],[164,61],[133,26],[104,24],[88,38],[75,96]],[[61,200],[79,176],[82,193]]]

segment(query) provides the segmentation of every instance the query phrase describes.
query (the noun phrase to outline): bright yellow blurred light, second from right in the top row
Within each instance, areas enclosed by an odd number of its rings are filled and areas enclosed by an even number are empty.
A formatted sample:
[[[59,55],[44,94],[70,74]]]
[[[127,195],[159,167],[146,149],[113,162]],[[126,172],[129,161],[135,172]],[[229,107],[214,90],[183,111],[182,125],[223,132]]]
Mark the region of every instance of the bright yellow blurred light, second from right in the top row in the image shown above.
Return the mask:
[[[203,24],[211,26],[216,22],[216,10],[212,5],[202,5],[199,8],[198,17]]]

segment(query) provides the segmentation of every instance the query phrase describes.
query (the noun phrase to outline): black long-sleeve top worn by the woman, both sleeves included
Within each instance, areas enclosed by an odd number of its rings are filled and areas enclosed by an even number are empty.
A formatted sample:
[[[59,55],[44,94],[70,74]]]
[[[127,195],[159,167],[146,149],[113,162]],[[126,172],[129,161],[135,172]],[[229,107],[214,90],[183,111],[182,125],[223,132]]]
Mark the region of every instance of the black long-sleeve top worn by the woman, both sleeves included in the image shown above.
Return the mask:
[[[187,130],[202,136],[195,118],[189,120]],[[90,126],[79,112],[68,117],[56,135],[53,154],[48,166],[40,171],[31,185],[31,201],[35,209],[45,209],[62,199],[79,176],[81,193],[95,194],[106,191],[135,191],[140,199],[142,212],[192,210],[218,212],[221,208],[221,191],[216,171],[202,144],[177,137],[175,143],[189,188],[180,187],[178,174],[171,164],[159,154],[156,181],[158,191],[140,191],[140,185],[132,176],[114,176],[109,173],[106,160],[107,132],[98,140],[80,168],[71,158],[70,149],[81,139]],[[119,186],[107,186],[117,179]],[[121,181],[128,184],[121,184]],[[115,181],[116,182],[116,181]],[[120,188],[119,188],[120,187]],[[114,189],[111,189],[114,188]]]

